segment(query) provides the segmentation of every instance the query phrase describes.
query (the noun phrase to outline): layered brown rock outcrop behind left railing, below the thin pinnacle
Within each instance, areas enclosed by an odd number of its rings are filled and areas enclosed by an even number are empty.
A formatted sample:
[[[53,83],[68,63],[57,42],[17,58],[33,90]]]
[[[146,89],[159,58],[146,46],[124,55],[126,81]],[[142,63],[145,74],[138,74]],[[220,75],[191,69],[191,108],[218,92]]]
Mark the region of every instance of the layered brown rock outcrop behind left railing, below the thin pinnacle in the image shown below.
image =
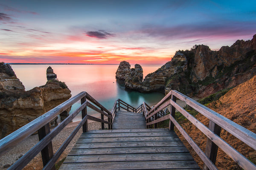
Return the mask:
[[[64,82],[49,80],[25,91],[11,66],[0,63],[0,133],[1,138],[31,122],[71,97]],[[70,108],[67,109],[69,113]],[[64,113],[63,113],[64,114]],[[66,115],[67,116],[67,115]],[[64,117],[63,117],[64,118]],[[56,118],[51,125],[56,124]]]

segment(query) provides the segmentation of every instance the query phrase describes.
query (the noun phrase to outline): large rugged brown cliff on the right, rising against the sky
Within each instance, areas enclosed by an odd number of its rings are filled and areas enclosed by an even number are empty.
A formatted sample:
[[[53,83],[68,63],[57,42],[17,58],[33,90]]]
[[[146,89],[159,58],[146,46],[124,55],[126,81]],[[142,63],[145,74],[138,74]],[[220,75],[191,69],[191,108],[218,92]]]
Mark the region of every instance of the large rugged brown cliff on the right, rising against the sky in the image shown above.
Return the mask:
[[[256,35],[252,40],[237,40],[232,46],[211,51],[206,45],[177,51],[170,62],[148,74],[140,83],[141,92],[175,89],[198,97],[234,87],[256,75]]]

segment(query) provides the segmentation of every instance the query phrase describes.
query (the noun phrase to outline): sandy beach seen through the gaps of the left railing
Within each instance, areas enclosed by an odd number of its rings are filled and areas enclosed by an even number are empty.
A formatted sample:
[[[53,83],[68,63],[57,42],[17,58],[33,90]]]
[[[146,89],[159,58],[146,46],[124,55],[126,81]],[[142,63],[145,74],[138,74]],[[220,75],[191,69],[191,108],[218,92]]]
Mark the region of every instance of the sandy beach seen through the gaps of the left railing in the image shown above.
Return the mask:
[[[70,133],[75,129],[76,125],[79,122],[73,122],[65,127],[61,132],[55,136],[52,140],[53,152],[55,153],[61,144],[67,139]],[[105,128],[108,125],[105,124]],[[100,122],[88,122],[88,129],[89,130],[99,130],[101,129]],[[76,143],[77,139],[81,135],[82,130],[80,129],[79,132],[76,134],[74,139],[70,142],[67,146],[66,150],[61,154],[61,157],[58,161],[64,159],[67,154],[70,152],[74,144]],[[15,161],[17,161],[24,153],[26,153],[31,147],[33,147],[38,142],[38,135],[29,136],[23,142],[18,144],[17,146],[13,147],[12,149],[8,150],[6,153],[3,153],[0,156],[0,170],[6,170],[10,165],[12,165]],[[58,162],[57,161],[57,162]],[[32,161],[24,168],[24,170],[41,170],[43,167],[41,153],[39,153]]]

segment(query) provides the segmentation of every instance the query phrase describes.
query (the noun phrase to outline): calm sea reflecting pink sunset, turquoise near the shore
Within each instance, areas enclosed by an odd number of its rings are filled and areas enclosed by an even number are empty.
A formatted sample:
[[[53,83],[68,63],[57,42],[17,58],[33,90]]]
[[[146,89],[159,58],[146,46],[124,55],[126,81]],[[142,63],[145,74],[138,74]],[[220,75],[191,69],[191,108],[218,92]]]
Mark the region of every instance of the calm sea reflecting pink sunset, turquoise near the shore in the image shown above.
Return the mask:
[[[143,101],[148,105],[155,105],[163,98],[161,93],[143,94],[125,89],[123,84],[116,81],[116,70],[119,65],[11,65],[18,79],[23,83],[26,91],[34,87],[45,85],[47,82],[46,70],[52,67],[57,79],[65,82],[70,89],[72,97],[81,91],[86,91],[111,111],[116,99],[122,99],[137,108]],[[156,71],[162,65],[141,65],[143,77]],[[131,65],[134,68],[134,65]],[[72,106],[71,113],[80,103]],[[99,113],[88,109],[88,114],[100,117]],[[78,116],[74,121],[79,121]]]

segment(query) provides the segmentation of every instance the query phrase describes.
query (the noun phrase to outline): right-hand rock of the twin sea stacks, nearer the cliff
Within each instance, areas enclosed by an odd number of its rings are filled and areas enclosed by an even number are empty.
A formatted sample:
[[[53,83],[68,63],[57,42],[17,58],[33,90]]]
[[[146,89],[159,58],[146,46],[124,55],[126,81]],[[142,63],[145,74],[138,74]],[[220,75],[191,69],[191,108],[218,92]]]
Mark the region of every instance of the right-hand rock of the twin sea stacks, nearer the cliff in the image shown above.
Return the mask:
[[[143,81],[143,69],[139,64],[135,64],[134,68],[131,68],[130,74],[125,79],[125,87],[129,89],[140,89]]]

